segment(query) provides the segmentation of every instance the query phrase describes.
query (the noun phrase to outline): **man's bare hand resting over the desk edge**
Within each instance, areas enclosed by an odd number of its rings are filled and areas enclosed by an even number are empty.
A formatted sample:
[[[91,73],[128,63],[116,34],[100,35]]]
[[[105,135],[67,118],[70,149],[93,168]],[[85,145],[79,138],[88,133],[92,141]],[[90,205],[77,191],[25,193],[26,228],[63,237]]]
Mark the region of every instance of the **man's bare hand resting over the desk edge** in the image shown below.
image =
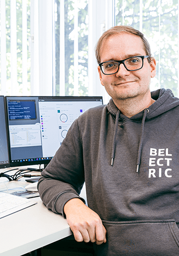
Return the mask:
[[[77,242],[106,243],[106,229],[99,215],[85,206],[79,198],[72,198],[64,206],[66,220]]]

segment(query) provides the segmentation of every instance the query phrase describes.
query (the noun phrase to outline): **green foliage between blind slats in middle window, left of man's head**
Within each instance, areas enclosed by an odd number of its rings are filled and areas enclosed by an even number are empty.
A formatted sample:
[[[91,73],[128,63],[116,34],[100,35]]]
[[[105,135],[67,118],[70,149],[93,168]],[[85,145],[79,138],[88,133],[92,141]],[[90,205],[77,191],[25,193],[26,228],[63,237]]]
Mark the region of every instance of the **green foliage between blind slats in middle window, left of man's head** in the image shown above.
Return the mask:
[[[60,86],[60,0],[56,0],[56,95]],[[65,95],[74,95],[74,0],[65,0]],[[78,93],[88,95],[87,0],[78,0]]]

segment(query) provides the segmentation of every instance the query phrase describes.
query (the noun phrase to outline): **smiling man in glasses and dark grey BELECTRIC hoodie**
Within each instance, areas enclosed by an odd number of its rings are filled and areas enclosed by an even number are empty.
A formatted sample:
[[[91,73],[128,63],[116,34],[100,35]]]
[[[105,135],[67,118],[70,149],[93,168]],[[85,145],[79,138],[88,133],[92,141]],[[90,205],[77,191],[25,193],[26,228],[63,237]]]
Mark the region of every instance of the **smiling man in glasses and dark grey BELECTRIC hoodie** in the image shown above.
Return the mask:
[[[156,62],[138,30],[106,31],[96,56],[112,99],[74,121],[42,172],[41,198],[97,255],[179,255],[179,101],[150,93]]]

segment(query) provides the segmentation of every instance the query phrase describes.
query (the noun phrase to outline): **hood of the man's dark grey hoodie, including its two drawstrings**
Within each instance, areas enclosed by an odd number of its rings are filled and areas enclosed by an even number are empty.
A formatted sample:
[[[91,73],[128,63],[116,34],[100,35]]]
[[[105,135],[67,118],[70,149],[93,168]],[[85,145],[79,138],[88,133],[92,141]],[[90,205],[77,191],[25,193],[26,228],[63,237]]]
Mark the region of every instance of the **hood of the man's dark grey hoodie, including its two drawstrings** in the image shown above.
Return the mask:
[[[139,165],[140,165],[140,160],[141,160],[145,121],[155,118],[155,117],[157,117],[157,116],[159,116],[159,115],[161,115],[179,105],[179,99],[174,97],[174,95],[170,89],[165,90],[164,88],[162,88],[162,89],[158,89],[156,91],[152,91],[151,97],[155,100],[155,102],[149,108],[141,111],[140,113],[138,113],[135,116],[130,118],[131,120],[141,122],[141,135],[140,135],[139,147],[138,147],[136,172],[139,171]],[[110,99],[109,104],[107,105],[107,109],[115,118],[115,129],[114,129],[114,134],[113,134],[112,153],[111,153],[111,165],[113,166],[113,161],[114,161],[114,157],[115,157],[116,135],[117,135],[117,129],[118,129],[118,122],[125,121],[129,118],[124,116],[120,112],[120,110],[114,104],[113,99]]]

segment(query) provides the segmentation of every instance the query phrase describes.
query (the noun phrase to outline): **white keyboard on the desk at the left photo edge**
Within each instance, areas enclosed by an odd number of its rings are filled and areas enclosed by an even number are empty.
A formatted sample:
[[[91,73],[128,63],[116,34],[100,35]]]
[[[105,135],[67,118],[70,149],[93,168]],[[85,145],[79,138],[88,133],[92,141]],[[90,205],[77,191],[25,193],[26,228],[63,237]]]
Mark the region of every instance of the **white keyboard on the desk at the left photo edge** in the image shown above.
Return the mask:
[[[33,206],[36,201],[25,197],[0,192],[0,219]]]

